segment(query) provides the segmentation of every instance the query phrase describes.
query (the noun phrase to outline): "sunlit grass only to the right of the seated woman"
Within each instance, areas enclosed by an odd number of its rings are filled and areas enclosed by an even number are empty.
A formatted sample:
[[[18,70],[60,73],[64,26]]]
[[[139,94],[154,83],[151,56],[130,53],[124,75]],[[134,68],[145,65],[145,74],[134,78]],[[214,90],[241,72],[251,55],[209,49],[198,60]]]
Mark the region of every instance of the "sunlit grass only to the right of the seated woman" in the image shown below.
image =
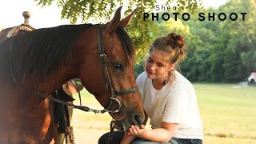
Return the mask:
[[[256,87],[234,87],[230,84],[194,84],[204,134],[211,137],[210,141],[237,138],[242,142],[256,142]]]

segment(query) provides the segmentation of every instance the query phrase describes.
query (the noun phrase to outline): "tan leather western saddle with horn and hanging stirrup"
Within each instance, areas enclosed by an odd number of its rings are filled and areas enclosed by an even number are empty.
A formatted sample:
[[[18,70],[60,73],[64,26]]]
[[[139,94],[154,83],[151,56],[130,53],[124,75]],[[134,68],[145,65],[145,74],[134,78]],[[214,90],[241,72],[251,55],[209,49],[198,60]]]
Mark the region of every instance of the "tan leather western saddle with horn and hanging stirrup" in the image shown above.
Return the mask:
[[[24,11],[22,16],[24,17],[24,22],[19,26],[12,26],[0,31],[0,42],[5,40],[6,38],[10,38],[15,36],[16,34],[20,34],[24,31],[32,31],[35,30],[34,27],[30,26],[30,12]],[[73,94],[78,93],[80,98],[80,91],[83,89],[80,80],[78,78],[71,79],[62,85],[58,90],[55,90],[52,97],[61,99],[64,102],[73,104],[74,98]],[[80,105],[81,98],[80,98]],[[70,126],[70,122],[72,119],[73,109],[62,103],[54,102],[54,125],[57,126],[57,137],[55,143],[63,143],[64,139],[66,139],[66,143],[74,143],[74,132],[73,127]],[[71,130],[71,131],[70,131]],[[69,136],[72,136],[73,139],[70,139]],[[72,142],[73,141],[73,142]]]

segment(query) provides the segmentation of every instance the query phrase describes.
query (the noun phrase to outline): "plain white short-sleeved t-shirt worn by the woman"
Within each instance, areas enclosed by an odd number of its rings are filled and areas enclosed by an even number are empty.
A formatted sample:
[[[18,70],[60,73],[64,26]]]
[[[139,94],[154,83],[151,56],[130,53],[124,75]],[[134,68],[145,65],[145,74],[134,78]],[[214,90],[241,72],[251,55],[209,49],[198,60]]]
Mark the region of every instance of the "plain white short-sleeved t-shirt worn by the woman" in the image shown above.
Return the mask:
[[[203,138],[194,87],[182,74],[175,70],[174,82],[168,82],[161,90],[154,89],[146,72],[136,82],[152,129],[161,127],[161,122],[179,123],[175,138]]]

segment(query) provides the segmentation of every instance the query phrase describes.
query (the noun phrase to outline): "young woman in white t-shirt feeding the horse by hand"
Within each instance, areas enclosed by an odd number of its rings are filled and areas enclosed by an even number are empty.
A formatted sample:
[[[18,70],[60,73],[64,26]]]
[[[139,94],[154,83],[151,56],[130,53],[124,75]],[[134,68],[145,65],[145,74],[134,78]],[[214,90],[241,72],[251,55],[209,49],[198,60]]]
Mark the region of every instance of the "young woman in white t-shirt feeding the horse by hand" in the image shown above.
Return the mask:
[[[194,87],[174,69],[185,56],[181,35],[171,33],[154,40],[146,58],[145,72],[136,80],[152,129],[146,130],[144,125],[142,128],[131,126],[126,133],[114,132],[114,140],[109,143],[202,143],[202,119]],[[104,134],[99,143],[106,142],[107,136]]]

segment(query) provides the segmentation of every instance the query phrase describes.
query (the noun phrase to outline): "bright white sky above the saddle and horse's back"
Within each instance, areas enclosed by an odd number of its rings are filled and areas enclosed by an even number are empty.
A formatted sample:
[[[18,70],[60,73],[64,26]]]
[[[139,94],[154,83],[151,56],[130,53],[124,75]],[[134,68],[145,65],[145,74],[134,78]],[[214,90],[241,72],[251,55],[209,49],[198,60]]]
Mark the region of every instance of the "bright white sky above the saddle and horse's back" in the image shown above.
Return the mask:
[[[226,0],[203,0],[206,7],[218,7]],[[30,11],[30,26],[34,28],[52,27],[70,24],[69,20],[61,19],[58,6],[37,6],[34,0],[0,0],[0,28],[18,26],[24,22],[23,11]],[[77,23],[79,24],[79,23]]]

